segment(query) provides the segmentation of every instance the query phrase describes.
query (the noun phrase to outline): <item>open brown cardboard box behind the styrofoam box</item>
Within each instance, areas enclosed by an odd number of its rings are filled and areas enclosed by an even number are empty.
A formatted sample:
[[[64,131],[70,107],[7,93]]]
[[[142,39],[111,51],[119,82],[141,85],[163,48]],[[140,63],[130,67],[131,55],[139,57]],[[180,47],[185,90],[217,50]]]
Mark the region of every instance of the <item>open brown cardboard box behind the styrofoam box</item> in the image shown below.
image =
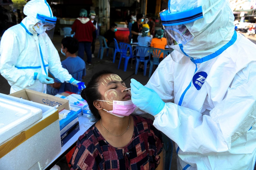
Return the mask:
[[[55,107],[56,109],[58,109],[59,112],[61,112],[63,109],[69,110],[68,100],[38,91],[23,89],[9,95]]]

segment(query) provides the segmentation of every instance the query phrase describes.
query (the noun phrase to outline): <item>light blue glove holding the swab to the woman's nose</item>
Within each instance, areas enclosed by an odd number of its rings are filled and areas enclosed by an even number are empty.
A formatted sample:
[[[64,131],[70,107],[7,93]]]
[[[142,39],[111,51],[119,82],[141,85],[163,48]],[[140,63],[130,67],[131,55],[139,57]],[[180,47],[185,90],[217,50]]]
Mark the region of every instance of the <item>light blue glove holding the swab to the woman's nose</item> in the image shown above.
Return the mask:
[[[165,102],[152,89],[140,84],[135,79],[131,79],[132,103],[140,110],[143,110],[153,116],[157,115],[165,106]]]

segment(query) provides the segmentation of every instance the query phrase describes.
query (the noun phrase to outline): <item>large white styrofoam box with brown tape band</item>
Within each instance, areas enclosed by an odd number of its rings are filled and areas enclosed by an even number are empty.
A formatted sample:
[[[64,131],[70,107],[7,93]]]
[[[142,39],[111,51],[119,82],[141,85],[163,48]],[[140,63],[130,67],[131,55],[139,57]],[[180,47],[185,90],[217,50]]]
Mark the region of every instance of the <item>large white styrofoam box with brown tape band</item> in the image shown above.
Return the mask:
[[[4,109],[6,109],[8,111],[7,114],[12,116],[5,122],[8,122],[10,127],[15,125],[15,127],[11,128],[11,131],[9,130],[9,132],[12,132],[11,135],[13,136],[0,143],[1,167],[4,169],[19,170],[44,169],[61,152],[58,110],[51,106],[2,93],[0,93],[0,103],[0,121],[2,121],[2,118],[8,119],[8,117],[2,117],[5,113]],[[11,106],[11,108],[9,106]],[[32,113],[41,110],[42,119],[36,122],[27,122],[29,116],[23,120],[13,116],[19,115],[20,113],[23,114],[26,111],[29,112],[29,110]],[[16,123],[13,124],[12,120],[13,122],[16,121]],[[36,119],[33,120],[35,121]],[[20,126],[18,124],[20,124]],[[25,126],[25,124],[27,126]],[[7,129],[7,126],[3,127]],[[18,131],[13,129],[18,129]],[[0,127],[0,131],[1,130],[2,127]],[[2,140],[1,137],[2,136],[0,136],[0,140]]]

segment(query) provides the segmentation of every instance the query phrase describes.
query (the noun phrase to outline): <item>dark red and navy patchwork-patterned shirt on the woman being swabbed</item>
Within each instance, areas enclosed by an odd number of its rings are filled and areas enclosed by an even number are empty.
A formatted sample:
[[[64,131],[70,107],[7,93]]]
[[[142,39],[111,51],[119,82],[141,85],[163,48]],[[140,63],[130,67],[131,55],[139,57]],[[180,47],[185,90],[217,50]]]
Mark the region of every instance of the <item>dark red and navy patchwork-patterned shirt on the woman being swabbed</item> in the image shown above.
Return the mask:
[[[132,116],[134,132],[129,144],[114,148],[99,133],[95,124],[78,139],[71,158],[71,170],[155,169],[162,152],[162,134],[151,119]]]

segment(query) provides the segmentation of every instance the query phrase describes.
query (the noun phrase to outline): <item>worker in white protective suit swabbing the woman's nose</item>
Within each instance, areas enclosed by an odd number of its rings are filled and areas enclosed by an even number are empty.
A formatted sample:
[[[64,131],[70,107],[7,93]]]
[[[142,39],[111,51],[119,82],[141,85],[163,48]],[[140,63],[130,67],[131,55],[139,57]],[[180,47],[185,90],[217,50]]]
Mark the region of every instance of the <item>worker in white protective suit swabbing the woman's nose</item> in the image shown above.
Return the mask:
[[[256,45],[233,25],[228,0],[169,0],[160,13],[177,41],[132,102],[176,143],[183,170],[253,170]]]

